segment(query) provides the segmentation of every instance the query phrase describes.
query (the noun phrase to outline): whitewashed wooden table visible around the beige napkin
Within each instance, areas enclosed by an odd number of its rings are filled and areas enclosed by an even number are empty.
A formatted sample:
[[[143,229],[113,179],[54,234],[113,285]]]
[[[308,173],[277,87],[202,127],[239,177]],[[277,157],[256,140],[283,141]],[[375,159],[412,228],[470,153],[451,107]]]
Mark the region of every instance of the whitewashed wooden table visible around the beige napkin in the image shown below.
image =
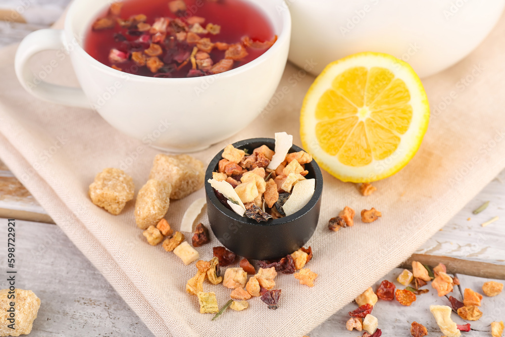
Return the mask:
[[[15,8],[19,1],[3,1],[0,4],[0,47],[19,41],[33,30],[46,27],[61,14],[68,2],[33,0],[27,18],[12,20],[9,7]],[[2,22],[6,18],[10,22]],[[485,201],[490,201],[489,207],[473,215],[472,211]],[[487,227],[481,226],[482,222],[494,216],[499,216],[500,220]],[[3,223],[5,220],[1,218],[18,219],[20,277],[17,285],[33,290],[42,300],[30,335],[153,335],[68,237],[52,224],[52,219],[0,161],[0,223]],[[0,228],[0,231],[6,230],[6,226],[0,225]],[[463,286],[475,290],[487,278],[505,279],[505,171],[430,238],[413,258],[432,265],[438,261],[447,263],[453,271],[460,273]],[[5,266],[0,266],[0,272],[4,269]],[[395,279],[399,271],[391,271],[384,279]],[[418,301],[409,308],[400,306],[396,301],[379,301],[374,315],[379,318],[379,327],[385,336],[410,335],[410,323],[414,320],[425,324],[430,335],[440,335],[427,308],[430,304],[446,304],[444,301],[431,290],[429,294],[419,296]],[[361,335],[345,329],[345,321],[349,317],[347,312],[355,308],[356,304],[349,304],[309,335]],[[490,319],[505,320],[503,308],[505,294],[486,301],[482,308],[486,312],[486,319],[472,323],[475,330],[467,334],[489,336]],[[487,315],[493,311],[495,314]],[[458,323],[462,324],[463,321]]]

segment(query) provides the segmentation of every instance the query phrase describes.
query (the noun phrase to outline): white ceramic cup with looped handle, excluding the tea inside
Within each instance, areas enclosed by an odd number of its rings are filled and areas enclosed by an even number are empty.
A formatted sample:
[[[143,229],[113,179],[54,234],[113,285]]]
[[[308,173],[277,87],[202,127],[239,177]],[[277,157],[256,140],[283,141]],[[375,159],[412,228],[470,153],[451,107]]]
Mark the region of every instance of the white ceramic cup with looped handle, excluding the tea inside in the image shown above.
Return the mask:
[[[83,50],[89,24],[109,3],[75,0],[63,30],[26,36],[16,53],[16,75],[28,92],[53,103],[92,108],[118,130],[171,152],[205,149],[254,120],[268,104],[287,61],[291,18],[284,0],[253,3],[270,20],[277,41],[257,59],[227,72],[194,78],[154,78],[108,67]],[[44,50],[63,50],[80,88],[34,81],[29,59]]]

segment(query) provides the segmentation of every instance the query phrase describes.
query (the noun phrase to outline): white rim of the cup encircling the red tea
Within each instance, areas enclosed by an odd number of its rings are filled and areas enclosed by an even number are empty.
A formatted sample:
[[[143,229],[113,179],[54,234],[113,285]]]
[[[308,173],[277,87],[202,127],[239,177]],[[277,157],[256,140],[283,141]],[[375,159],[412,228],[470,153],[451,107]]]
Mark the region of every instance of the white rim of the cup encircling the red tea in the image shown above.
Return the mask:
[[[79,1],[85,1],[85,0],[75,0],[69,7],[67,15],[65,17],[65,22],[64,22],[64,30],[66,33],[68,33],[70,36],[76,36],[75,32],[71,28],[71,20],[72,17],[75,15],[74,11],[75,8],[77,7],[77,3]],[[252,3],[255,5],[254,0],[240,0],[240,1],[245,1],[248,3]],[[282,45],[287,43],[289,45],[290,43],[290,38],[291,38],[291,14],[288,10],[288,7],[285,3],[284,0],[272,0],[272,2],[278,2],[279,4],[276,6],[282,6],[285,10],[280,11],[282,12],[282,27],[281,31],[277,35],[277,40],[275,43],[262,55],[257,57],[256,59],[241,65],[235,69],[231,69],[228,71],[225,71],[223,73],[219,74],[212,74],[212,75],[206,75],[206,76],[198,76],[198,77],[168,77],[168,78],[162,78],[162,77],[150,77],[150,76],[141,76],[141,75],[136,75],[136,74],[130,74],[130,73],[125,73],[123,71],[116,70],[114,68],[111,68],[109,66],[106,66],[105,64],[95,60],[91,55],[89,55],[81,45],[81,43],[77,43],[75,46],[75,51],[79,53],[82,57],[84,57],[88,62],[90,62],[90,66],[100,68],[100,70],[104,72],[108,72],[110,75],[114,76],[125,76],[125,74],[130,77],[131,79],[134,79],[135,81],[146,81],[146,82],[153,82],[153,83],[160,83],[160,82],[174,82],[174,81],[181,81],[181,82],[198,82],[201,81],[202,78],[212,78],[212,80],[218,79],[218,78],[226,78],[226,77],[232,77],[235,75],[238,75],[242,72],[248,71],[251,68],[255,68],[257,65],[265,62],[268,58],[273,56],[274,53],[279,52],[279,50],[282,48]],[[278,11],[279,12],[279,11]],[[94,15],[96,15],[96,12],[94,12]],[[92,19],[92,18],[90,18]],[[270,18],[269,18],[270,19]],[[84,41],[84,38],[81,42]]]

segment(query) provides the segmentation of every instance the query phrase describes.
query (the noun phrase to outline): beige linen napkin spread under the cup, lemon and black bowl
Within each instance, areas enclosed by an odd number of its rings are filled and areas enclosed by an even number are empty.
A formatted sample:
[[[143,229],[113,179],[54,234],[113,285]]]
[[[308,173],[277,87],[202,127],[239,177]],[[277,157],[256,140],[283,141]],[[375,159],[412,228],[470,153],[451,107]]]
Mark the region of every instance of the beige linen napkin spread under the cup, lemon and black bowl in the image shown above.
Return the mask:
[[[194,264],[184,266],[161,246],[146,243],[134,222],[134,203],[113,216],[87,196],[94,175],[106,167],[124,169],[138,191],[158,151],[119,133],[95,112],[31,97],[14,74],[15,50],[0,51],[0,158],[157,336],[308,333],[408,258],[505,166],[502,18],[469,57],[423,81],[432,118],[419,153],[401,172],[375,183],[378,190],[369,197],[360,196],[355,184],[324,173],[320,222],[309,242],[314,259],[308,267],[319,274],[315,287],[281,274],[277,310],[251,299],[249,309],[229,310],[211,322],[213,315],[200,314],[196,298],[185,292]],[[53,57],[52,52],[41,54],[33,70],[37,73]],[[278,88],[284,98],[273,100],[254,123],[194,156],[208,163],[226,143],[271,137],[276,131],[293,134],[300,145],[298,113],[314,78],[295,74],[300,75],[298,69],[287,65]],[[75,84],[68,59],[48,78]],[[200,197],[203,190],[171,203],[167,219],[175,229],[187,206]],[[357,219],[352,228],[329,231],[328,219],[344,206],[358,213],[375,207],[383,217],[371,224]],[[201,221],[208,224],[205,216]],[[213,237],[197,249],[200,257],[210,259],[217,245]],[[220,306],[229,299],[230,290],[222,285],[205,283],[204,290],[215,291]]]

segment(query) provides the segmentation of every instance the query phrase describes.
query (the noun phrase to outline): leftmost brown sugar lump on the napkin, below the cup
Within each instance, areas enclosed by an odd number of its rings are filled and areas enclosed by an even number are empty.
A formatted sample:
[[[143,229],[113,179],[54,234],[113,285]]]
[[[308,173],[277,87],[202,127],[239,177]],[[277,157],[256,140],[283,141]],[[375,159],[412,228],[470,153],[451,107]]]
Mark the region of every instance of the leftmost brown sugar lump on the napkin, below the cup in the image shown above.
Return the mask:
[[[89,185],[89,197],[93,204],[118,215],[133,199],[135,185],[133,179],[120,169],[106,168],[98,173]]]

